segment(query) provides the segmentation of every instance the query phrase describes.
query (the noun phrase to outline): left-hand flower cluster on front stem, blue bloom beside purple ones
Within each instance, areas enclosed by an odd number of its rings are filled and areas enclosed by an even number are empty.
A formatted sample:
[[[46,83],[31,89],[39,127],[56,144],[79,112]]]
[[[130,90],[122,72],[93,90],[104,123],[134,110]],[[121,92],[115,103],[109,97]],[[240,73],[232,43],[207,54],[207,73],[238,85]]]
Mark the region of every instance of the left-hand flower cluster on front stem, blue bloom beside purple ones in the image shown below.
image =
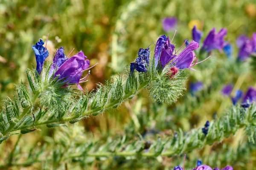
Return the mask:
[[[37,68],[36,71],[41,75],[44,61],[48,57],[49,52],[46,47],[43,47],[44,42],[40,39],[36,45],[33,45],[32,48],[35,51]],[[71,51],[72,52],[72,51]],[[82,87],[79,85],[81,82],[87,81],[89,73],[83,77],[82,74],[84,71],[90,69],[90,60],[84,55],[84,52],[80,51],[78,54],[67,58],[64,54],[64,48],[61,47],[57,50],[51,68],[49,70],[49,76],[52,79],[57,78],[58,80],[63,80],[66,82],[66,85],[76,84],[79,89],[82,90]],[[53,75],[52,75],[53,74]]]

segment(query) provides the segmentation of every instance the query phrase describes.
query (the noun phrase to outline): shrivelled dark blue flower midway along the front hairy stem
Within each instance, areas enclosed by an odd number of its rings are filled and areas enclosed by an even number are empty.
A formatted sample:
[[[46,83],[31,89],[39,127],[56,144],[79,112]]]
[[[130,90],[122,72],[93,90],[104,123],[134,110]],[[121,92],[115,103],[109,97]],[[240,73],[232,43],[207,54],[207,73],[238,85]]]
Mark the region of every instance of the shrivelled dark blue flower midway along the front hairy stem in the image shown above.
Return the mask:
[[[148,69],[146,68],[146,65],[149,65],[149,55],[150,51],[149,48],[140,48],[138,51],[138,58],[136,59],[136,62],[131,62],[130,65],[130,71],[131,74],[136,69],[139,72],[146,72]]]

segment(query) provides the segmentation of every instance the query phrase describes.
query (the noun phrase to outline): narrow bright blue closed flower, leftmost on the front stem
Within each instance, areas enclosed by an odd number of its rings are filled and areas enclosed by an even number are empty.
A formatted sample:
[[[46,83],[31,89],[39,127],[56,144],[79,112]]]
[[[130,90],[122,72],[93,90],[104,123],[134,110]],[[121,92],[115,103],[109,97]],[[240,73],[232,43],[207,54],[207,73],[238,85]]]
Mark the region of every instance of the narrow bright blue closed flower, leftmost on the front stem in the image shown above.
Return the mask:
[[[43,70],[43,65],[45,59],[49,56],[49,51],[47,48],[43,47],[43,40],[39,40],[35,45],[32,46],[35,51],[35,59],[36,59],[36,71],[40,75]]]

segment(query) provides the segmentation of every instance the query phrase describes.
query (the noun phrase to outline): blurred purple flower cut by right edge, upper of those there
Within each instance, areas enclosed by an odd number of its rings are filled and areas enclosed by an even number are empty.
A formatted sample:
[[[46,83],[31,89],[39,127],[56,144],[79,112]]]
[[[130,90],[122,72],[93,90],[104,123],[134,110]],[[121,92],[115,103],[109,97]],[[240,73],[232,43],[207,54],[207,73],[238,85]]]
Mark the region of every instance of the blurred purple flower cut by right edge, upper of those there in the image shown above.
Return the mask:
[[[251,39],[245,35],[239,36],[236,40],[236,45],[240,48],[238,59],[244,61],[256,50],[256,33],[253,33]]]

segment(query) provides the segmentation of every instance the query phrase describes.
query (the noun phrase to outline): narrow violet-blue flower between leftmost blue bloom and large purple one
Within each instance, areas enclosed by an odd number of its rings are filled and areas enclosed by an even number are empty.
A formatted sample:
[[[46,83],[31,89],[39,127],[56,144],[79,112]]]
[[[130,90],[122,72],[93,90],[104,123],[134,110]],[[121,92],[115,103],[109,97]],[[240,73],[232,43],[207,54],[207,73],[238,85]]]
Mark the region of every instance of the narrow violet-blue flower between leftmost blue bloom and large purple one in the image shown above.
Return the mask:
[[[49,75],[52,75],[53,71],[55,71],[56,68],[59,68],[61,65],[63,65],[64,62],[66,62],[67,60],[68,58],[66,58],[66,55],[64,54],[64,47],[59,48],[53,58]]]

